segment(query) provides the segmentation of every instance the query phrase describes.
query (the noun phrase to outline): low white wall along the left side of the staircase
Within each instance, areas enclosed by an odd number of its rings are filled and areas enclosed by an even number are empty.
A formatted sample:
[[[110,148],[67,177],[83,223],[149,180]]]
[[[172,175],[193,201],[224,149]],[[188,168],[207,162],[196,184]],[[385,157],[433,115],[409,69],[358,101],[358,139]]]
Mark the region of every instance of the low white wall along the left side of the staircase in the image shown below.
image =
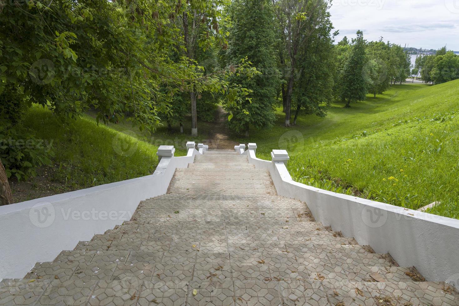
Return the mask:
[[[162,157],[152,175],[0,206],[0,280],[22,278],[36,262],[129,220],[140,201],[165,194],[175,169],[196,154]]]

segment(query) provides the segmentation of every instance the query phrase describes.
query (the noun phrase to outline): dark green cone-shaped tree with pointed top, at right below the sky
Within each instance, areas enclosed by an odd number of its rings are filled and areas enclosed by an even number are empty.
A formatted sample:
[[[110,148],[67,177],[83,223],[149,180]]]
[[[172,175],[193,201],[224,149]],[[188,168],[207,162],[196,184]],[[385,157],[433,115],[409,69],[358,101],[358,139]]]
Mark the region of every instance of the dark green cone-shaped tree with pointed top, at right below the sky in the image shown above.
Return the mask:
[[[342,71],[342,97],[346,100],[345,107],[351,107],[353,101],[364,100],[368,92],[367,82],[362,73],[365,63],[365,40],[362,31],[357,31],[357,38],[352,40],[352,44]]]

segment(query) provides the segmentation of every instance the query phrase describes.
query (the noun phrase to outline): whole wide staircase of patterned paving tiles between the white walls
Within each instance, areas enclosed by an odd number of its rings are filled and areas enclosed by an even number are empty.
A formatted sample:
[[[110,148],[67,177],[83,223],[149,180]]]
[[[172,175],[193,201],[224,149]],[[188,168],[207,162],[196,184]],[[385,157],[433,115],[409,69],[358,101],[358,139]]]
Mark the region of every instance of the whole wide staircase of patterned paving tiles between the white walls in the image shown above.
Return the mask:
[[[267,170],[219,150],[177,169],[168,194],[129,222],[3,280],[0,305],[459,305],[459,295],[315,222],[276,195]]]

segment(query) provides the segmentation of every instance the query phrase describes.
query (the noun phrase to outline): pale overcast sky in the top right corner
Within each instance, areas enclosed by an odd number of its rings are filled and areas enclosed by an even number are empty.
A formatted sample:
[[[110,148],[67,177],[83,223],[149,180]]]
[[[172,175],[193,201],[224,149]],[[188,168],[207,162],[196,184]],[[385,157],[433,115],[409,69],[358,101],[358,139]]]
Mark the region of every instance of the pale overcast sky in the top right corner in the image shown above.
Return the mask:
[[[333,0],[330,13],[336,42],[362,30],[367,40],[459,51],[459,0]]]

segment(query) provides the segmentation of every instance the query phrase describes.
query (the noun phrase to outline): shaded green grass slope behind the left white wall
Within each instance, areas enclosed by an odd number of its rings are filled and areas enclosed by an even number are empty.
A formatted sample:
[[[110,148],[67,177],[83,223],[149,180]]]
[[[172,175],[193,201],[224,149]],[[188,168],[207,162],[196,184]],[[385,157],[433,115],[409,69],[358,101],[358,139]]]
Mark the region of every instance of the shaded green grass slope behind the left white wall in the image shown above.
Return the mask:
[[[31,108],[24,119],[37,138],[52,142],[55,152],[51,178],[62,191],[127,180],[153,173],[157,146],[81,118],[62,126],[41,107]]]

